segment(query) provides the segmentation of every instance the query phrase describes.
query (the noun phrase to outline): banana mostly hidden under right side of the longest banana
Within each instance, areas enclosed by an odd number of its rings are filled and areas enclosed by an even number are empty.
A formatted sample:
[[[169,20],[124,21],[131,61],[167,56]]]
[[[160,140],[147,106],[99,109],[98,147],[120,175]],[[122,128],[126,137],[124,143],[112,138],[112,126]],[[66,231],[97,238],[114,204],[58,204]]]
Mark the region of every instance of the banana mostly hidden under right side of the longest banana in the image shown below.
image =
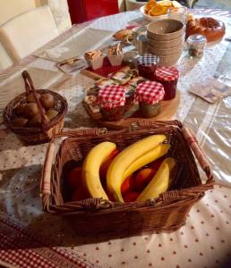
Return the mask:
[[[159,157],[166,155],[171,146],[169,144],[161,144],[158,147],[150,150],[145,155],[141,155],[136,161],[134,161],[128,169],[124,172],[123,180],[128,176],[139,170],[142,166],[157,160]]]

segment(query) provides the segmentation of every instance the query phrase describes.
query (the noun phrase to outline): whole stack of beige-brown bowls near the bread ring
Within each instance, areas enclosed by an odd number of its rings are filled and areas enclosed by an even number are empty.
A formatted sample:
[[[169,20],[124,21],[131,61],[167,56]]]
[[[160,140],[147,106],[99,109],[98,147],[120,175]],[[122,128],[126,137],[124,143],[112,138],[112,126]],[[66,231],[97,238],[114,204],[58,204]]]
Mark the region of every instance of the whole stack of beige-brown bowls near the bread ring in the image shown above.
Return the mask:
[[[171,66],[179,60],[184,46],[184,23],[173,19],[153,21],[147,27],[149,53],[159,57],[159,66]]]

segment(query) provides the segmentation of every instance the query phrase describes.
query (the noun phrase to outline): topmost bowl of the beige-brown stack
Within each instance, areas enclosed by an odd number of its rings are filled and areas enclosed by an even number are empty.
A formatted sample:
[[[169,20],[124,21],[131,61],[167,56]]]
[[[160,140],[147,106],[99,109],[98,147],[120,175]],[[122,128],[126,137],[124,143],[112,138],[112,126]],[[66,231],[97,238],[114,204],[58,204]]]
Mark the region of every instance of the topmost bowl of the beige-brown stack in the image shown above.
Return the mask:
[[[181,38],[183,34],[183,22],[171,19],[153,21],[147,27],[148,37],[158,41]]]

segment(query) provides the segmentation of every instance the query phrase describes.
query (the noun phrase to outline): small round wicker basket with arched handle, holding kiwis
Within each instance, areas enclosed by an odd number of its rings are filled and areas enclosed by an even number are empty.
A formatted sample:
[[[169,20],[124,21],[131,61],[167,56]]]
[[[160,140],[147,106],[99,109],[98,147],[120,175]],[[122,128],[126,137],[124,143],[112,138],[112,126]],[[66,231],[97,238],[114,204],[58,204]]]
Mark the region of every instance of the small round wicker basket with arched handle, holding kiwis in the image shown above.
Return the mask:
[[[54,135],[59,133],[64,128],[64,116],[67,113],[67,102],[65,98],[54,91],[48,89],[38,89],[35,90],[33,82],[30,78],[30,74],[27,71],[21,73],[22,78],[25,82],[26,92],[22,93],[19,96],[16,96],[6,107],[4,108],[4,124],[13,130],[15,134],[21,138],[22,141],[25,141],[29,144],[39,144],[47,142]],[[26,103],[26,95],[33,93],[36,103],[39,107],[39,113],[41,115],[41,128],[38,127],[16,127],[13,124],[13,121],[16,118],[16,115],[13,113],[13,109],[18,105]],[[49,93],[55,98],[54,108],[58,112],[58,115],[51,121],[46,120],[44,116],[44,110],[42,105],[39,102],[39,98],[36,96],[36,92],[39,94]]]

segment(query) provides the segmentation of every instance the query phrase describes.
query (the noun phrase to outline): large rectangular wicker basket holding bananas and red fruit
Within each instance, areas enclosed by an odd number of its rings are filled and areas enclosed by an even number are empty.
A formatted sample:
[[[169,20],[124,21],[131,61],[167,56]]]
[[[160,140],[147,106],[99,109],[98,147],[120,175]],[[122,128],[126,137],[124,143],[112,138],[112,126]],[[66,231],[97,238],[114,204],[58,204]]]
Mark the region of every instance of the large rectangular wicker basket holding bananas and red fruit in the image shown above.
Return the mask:
[[[213,188],[210,165],[192,132],[180,121],[137,122],[133,130],[116,130],[104,133],[100,129],[79,130],[60,134],[66,136],[52,163],[56,148],[53,139],[47,149],[41,193],[43,208],[50,214],[61,214],[79,235],[110,234],[131,236],[153,231],[174,231],[184,225],[195,202]],[[71,202],[66,193],[64,174],[84,159],[91,147],[102,141],[113,141],[119,149],[151,134],[164,133],[171,144],[168,155],[177,162],[175,180],[166,193],[146,202],[118,203],[100,198]],[[195,155],[195,156],[194,156]],[[207,175],[202,184],[195,158]],[[53,173],[54,176],[51,177]],[[70,221],[69,221],[70,220]]]

